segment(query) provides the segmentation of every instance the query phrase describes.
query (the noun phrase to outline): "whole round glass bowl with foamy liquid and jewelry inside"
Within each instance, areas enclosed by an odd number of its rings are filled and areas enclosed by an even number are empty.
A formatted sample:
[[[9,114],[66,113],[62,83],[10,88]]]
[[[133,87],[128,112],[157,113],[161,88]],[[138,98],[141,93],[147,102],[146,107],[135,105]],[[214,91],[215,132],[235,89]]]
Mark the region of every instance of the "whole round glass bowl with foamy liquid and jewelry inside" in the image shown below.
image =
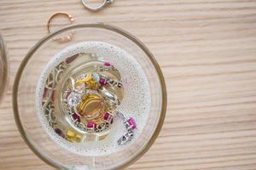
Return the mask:
[[[76,32],[72,41],[55,41],[69,31]],[[160,133],[166,85],[154,56],[130,33],[74,25],[44,37],[26,55],[13,104],[21,136],[49,165],[122,169]]]

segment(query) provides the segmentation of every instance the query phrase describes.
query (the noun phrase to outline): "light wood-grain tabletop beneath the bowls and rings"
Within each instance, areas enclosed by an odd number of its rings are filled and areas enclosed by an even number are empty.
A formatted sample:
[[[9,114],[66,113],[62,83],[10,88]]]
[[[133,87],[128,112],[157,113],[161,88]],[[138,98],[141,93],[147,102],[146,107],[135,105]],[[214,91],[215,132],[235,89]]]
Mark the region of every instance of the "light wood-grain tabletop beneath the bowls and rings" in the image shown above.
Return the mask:
[[[10,84],[1,105],[0,169],[53,169],[20,137],[11,105],[20,61],[47,34],[56,11],[76,23],[105,22],[142,40],[160,63],[166,121],[127,169],[256,169],[256,0],[116,0],[100,13],[80,0],[1,0]],[[1,83],[1,82],[0,82]]]

